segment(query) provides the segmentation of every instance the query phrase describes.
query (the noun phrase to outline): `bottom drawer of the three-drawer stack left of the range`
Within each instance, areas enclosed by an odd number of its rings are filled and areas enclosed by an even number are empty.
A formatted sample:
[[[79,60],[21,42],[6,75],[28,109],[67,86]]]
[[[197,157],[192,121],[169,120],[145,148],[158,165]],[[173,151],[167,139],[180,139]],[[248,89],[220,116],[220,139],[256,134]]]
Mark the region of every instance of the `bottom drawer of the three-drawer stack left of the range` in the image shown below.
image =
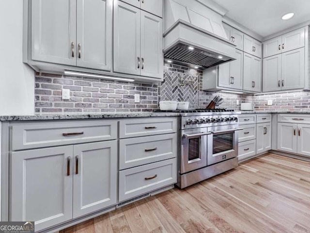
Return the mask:
[[[176,158],[119,172],[119,201],[176,183]]]

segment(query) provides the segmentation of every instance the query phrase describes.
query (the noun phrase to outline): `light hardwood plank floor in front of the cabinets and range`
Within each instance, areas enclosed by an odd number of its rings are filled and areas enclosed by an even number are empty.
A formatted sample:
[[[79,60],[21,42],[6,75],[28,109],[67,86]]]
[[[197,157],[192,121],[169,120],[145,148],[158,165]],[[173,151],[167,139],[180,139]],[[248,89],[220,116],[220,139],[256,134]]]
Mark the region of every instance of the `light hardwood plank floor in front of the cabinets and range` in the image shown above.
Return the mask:
[[[60,233],[310,233],[310,163],[269,153]]]

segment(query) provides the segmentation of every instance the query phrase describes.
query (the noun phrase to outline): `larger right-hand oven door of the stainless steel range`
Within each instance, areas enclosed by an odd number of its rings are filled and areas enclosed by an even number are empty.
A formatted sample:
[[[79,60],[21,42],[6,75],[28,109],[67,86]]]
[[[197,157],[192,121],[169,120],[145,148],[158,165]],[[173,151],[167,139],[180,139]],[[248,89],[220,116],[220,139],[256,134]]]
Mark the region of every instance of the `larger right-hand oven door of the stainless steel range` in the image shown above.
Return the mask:
[[[241,128],[225,129],[210,127],[208,135],[207,165],[216,164],[238,156],[238,131]]]

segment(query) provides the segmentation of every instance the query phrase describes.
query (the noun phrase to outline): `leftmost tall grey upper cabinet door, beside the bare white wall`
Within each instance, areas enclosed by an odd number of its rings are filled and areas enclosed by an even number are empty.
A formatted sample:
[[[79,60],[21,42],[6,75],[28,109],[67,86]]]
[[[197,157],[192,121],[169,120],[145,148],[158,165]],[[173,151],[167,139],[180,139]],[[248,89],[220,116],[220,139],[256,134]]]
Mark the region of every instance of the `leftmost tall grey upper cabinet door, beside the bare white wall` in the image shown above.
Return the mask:
[[[76,66],[76,0],[31,1],[31,59]]]

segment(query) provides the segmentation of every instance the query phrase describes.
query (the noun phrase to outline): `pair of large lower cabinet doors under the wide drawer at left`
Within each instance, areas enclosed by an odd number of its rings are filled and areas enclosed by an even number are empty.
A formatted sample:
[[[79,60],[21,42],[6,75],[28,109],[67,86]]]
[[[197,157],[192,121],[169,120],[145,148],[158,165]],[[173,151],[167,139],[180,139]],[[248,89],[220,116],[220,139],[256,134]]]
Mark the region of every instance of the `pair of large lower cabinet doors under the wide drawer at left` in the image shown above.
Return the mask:
[[[117,141],[12,152],[11,221],[40,231],[116,204]]]

